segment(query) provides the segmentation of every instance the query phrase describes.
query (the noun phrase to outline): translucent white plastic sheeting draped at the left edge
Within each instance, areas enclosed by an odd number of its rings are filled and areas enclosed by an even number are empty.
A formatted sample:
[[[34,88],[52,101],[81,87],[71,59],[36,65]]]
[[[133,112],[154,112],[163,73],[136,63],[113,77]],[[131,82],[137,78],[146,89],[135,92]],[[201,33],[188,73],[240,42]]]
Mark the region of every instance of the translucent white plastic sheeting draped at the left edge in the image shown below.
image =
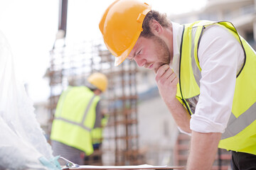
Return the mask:
[[[11,48],[0,32],[0,169],[46,169],[38,158],[52,159],[52,149],[16,73]]]

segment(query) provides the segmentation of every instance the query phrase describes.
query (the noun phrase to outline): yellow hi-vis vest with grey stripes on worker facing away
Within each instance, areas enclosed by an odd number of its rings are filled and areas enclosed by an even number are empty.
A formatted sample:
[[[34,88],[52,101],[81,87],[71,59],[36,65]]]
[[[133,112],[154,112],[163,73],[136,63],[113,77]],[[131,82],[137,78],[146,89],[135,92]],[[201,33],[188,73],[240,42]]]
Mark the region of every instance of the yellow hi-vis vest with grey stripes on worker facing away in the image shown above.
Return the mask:
[[[50,139],[92,154],[91,130],[98,101],[100,97],[86,86],[69,86],[58,101]]]

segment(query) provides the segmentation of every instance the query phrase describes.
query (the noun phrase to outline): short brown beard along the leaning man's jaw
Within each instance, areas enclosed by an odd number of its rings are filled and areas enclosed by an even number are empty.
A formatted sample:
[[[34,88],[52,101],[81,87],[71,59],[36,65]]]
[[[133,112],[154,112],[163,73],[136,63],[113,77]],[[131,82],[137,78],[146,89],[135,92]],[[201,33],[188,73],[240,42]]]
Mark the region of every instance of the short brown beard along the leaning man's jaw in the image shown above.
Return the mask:
[[[169,51],[169,48],[167,47],[166,42],[164,42],[164,40],[157,37],[156,35],[153,36],[153,40],[155,42],[156,52],[158,53],[157,58],[159,60],[157,62],[156,68],[154,69],[154,72],[156,73],[159,67],[161,67],[162,65],[170,64],[171,52]]]

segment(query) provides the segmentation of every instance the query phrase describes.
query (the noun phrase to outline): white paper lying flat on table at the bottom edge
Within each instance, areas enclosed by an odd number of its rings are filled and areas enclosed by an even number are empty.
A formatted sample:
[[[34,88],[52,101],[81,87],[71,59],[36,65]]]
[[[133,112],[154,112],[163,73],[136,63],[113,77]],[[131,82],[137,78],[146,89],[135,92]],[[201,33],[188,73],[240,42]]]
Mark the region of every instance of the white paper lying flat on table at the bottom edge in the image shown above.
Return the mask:
[[[153,166],[149,164],[135,165],[135,166],[92,166],[92,165],[80,165],[79,169],[158,169],[164,168],[164,166]]]

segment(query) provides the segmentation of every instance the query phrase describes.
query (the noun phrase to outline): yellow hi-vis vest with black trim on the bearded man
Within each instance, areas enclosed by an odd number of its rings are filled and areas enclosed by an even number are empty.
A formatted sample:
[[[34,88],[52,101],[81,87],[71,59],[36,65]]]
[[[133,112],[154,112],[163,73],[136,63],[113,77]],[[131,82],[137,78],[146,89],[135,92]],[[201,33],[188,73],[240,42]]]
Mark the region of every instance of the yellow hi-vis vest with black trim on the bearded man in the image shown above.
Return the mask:
[[[232,23],[198,21],[184,25],[177,98],[192,114],[188,101],[193,101],[200,95],[201,67],[198,61],[198,45],[203,28],[213,24],[227,29],[240,42],[245,52],[245,62],[236,78],[232,114],[218,147],[256,154],[256,55]]]

